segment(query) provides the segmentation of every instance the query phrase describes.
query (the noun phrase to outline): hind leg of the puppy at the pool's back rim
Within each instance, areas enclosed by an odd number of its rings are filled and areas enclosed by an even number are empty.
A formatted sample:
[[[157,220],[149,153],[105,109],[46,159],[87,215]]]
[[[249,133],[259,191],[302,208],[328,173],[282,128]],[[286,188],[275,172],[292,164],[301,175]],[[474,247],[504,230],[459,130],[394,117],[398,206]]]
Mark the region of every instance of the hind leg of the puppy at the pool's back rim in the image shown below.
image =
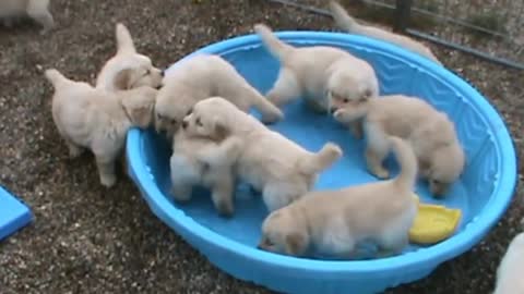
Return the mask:
[[[276,107],[284,106],[301,94],[300,83],[296,74],[286,68],[282,68],[273,88],[267,93],[267,99]]]

